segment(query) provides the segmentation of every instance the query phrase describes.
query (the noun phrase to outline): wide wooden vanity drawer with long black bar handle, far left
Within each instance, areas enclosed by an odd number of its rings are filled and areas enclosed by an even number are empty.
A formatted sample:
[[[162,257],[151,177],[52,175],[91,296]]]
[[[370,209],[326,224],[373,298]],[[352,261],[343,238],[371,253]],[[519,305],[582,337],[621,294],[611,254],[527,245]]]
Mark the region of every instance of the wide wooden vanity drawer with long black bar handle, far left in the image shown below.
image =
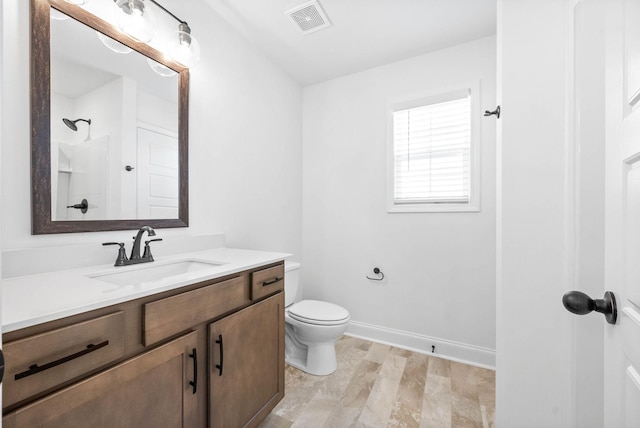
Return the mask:
[[[7,407],[123,357],[124,312],[8,342],[3,351]]]

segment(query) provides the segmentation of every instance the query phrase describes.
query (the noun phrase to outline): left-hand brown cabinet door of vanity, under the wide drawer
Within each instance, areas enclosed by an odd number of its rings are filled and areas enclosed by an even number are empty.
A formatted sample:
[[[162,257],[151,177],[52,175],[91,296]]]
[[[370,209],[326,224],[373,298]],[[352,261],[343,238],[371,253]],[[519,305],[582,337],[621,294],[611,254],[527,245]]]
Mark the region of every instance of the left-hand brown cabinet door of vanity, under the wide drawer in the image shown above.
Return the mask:
[[[193,427],[195,332],[125,361],[3,418],[13,427]]]

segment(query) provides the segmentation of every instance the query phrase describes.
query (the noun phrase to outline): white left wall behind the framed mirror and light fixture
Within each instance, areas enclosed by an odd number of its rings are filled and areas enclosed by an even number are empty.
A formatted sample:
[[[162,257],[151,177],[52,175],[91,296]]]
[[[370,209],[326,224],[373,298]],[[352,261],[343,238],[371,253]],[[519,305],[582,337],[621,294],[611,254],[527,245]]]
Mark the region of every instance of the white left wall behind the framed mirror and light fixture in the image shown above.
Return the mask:
[[[301,253],[302,90],[202,2],[166,1],[202,47],[191,71],[190,227],[229,246]],[[2,248],[131,240],[131,232],[31,236],[29,2],[4,1]]]

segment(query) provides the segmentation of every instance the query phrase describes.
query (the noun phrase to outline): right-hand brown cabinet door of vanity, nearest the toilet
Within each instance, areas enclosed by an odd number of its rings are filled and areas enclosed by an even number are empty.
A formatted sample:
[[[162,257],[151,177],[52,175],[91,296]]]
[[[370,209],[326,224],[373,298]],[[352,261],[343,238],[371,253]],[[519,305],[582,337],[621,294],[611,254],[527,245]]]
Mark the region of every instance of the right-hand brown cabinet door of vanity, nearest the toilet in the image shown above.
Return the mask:
[[[209,426],[257,426],[284,397],[284,295],[209,325]]]

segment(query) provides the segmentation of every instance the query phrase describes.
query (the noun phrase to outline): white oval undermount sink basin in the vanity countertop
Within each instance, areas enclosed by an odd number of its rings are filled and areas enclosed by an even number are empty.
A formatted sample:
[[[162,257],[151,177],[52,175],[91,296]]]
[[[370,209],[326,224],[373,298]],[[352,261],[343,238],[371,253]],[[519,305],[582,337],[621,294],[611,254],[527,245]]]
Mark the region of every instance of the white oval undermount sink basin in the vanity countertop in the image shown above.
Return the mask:
[[[98,281],[116,285],[136,285],[161,281],[169,277],[209,269],[223,264],[203,260],[180,260],[159,265],[155,263],[156,262],[135,265],[135,268],[130,268],[124,272],[98,273],[88,276]]]

